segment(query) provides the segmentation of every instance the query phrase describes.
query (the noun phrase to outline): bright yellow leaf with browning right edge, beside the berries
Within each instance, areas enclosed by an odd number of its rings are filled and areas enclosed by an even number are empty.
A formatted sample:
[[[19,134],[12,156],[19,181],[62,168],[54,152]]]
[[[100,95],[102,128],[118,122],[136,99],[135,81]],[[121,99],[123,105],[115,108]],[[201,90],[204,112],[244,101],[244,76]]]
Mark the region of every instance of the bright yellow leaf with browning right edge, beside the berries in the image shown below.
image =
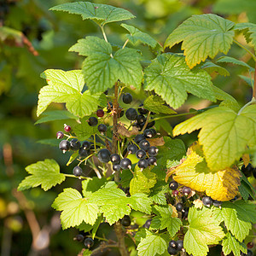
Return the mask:
[[[194,143],[188,150],[188,158],[174,169],[173,177],[191,189],[206,192],[212,199],[230,201],[238,193],[240,171],[237,167],[212,172],[204,159],[201,145]]]

